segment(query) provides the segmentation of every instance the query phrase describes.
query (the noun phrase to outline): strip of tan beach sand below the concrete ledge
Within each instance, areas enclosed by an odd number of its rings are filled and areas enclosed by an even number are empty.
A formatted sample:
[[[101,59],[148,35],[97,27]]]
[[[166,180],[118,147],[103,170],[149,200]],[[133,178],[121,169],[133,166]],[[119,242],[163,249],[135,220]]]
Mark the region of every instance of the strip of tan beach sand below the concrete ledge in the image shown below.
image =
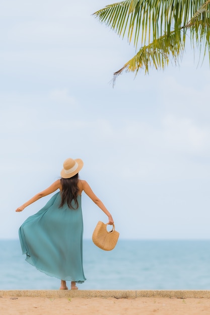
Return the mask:
[[[1,315],[209,315],[210,298],[0,297]]]

